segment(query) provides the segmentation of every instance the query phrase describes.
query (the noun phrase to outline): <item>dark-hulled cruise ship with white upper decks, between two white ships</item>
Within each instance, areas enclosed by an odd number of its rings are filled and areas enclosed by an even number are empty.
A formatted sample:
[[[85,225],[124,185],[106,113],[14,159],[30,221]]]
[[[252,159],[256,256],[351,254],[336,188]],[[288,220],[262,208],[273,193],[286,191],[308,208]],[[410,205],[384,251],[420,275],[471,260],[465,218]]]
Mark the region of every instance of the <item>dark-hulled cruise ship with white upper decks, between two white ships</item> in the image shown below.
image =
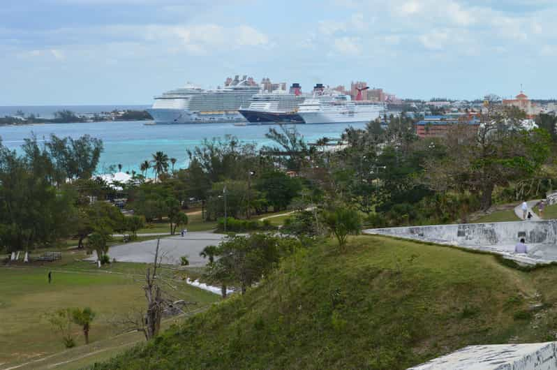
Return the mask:
[[[285,90],[255,94],[248,108],[238,111],[246,118],[248,125],[303,124],[304,120],[299,117],[297,110],[305,98],[300,85],[294,83],[288,94]]]

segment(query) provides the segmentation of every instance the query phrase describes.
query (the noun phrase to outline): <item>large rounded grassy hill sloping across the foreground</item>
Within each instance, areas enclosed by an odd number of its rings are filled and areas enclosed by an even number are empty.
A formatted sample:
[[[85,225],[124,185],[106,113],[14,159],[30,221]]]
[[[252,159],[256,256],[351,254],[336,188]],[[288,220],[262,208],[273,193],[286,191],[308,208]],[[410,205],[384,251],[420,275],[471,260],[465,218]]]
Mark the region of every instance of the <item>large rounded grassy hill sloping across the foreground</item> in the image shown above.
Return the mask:
[[[545,341],[557,270],[362,236],[300,251],[257,288],[94,369],[406,369],[475,343]]]

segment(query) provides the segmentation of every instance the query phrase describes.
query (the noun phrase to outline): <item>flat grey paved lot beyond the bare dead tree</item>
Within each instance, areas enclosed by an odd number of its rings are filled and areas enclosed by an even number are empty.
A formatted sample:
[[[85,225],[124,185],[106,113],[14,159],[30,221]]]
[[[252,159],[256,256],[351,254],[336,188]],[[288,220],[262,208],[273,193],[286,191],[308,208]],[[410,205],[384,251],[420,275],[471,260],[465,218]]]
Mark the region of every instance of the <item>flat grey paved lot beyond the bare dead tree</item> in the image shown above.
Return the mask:
[[[161,239],[160,247],[163,263],[179,265],[180,257],[187,256],[190,266],[205,266],[207,260],[199,256],[200,251],[206,246],[217,245],[224,237],[212,232],[188,232],[184,237],[165,237]],[[119,262],[153,262],[155,249],[156,239],[146,240],[111,246],[108,255]],[[88,260],[96,260],[96,253]]]

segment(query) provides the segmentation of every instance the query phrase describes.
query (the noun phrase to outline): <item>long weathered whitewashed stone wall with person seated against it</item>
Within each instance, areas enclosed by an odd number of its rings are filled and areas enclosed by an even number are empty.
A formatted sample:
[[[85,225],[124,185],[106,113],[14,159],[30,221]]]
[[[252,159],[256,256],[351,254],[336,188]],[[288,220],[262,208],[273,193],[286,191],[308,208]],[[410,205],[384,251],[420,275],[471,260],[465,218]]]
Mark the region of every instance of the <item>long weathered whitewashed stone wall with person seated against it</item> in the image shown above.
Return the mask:
[[[364,233],[491,251],[530,265],[557,261],[557,220],[409,226]],[[521,238],[526,239],[527,256],[514,253]]]

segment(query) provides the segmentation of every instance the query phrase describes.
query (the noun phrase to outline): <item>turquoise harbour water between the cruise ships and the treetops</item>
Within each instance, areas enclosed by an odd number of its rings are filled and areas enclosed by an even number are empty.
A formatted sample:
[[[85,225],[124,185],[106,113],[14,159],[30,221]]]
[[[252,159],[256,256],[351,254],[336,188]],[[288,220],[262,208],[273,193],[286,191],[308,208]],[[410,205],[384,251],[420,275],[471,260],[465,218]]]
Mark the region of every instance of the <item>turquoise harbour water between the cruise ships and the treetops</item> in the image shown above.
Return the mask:
[[[298,125],[299,133],[307,142],[318,138],[339,138],[348,126],[364,127],[364,124]],[[103,140],[105,150],[101,155],[98,172],[108,172],[110,165],[121,163],[124,171],[139,171],[140,163],[151,159],[155,151],[164,151],[170,158],[177,158],[176,168],[188,163],[186,149],[200,145],[203,139],[235,135],[244,142],[255,142],[258,147],[271,142],[265,133],[271,126],[234,126],[232,124],[198,125],[145,125],[144,121],[91,122],[82,124],[36,124],[29,126],[2,126],[0,137],[3,145],[17,149],[25,138],[35,133],[38,140],[48,140],[51,133],[60,137],[89,134]]]

